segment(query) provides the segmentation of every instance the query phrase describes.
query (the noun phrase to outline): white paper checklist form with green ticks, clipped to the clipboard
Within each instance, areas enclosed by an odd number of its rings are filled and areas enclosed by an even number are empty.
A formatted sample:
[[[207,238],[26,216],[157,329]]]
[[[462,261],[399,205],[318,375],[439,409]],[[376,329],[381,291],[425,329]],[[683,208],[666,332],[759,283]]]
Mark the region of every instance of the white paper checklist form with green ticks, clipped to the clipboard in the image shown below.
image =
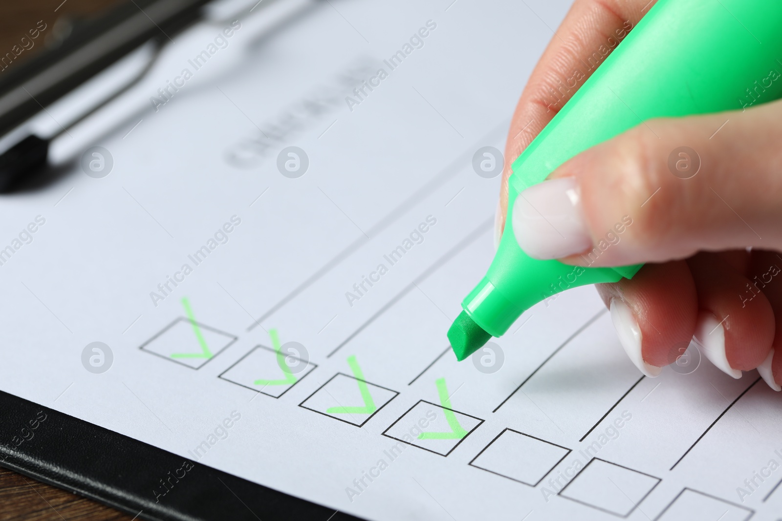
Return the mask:
[[[778,396],[642,377],[593,288],[450,353],[493,255],[473,155],[567,8],[323,3],[97,141],[108,176],[4,196],[0,388],[366,519],[777,519]]]

